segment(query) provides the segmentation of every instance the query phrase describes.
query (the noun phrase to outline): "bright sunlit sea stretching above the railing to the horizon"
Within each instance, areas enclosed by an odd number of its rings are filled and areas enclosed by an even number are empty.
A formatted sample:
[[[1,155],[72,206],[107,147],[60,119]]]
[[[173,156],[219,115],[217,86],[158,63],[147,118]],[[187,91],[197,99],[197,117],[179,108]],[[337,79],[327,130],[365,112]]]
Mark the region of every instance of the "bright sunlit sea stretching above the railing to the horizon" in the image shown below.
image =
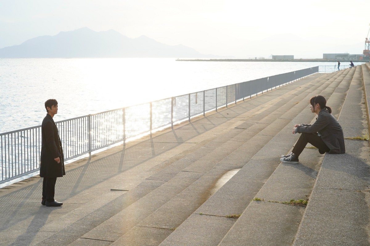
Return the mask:
[[[176,62],[174,58],[0,59],[0,133],[277,75],[320,62]],[[343,63],[344,65],[344,63]],[[347,65],[347,64],[345,64]]]

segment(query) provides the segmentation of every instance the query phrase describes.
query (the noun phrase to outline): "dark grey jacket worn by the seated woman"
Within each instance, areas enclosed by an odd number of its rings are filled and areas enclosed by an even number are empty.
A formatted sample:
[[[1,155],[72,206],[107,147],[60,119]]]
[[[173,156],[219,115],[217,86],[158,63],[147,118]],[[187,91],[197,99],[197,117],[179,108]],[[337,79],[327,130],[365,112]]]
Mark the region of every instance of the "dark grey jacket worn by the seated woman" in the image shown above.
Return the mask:
[[[302,124],[297,127],[298,133],[316,133],[330,149],[329,154],[343,154],[346,152],[344,147],[343,129],[338,121],[326,108],[323,108],[317,115],[313,125]]]

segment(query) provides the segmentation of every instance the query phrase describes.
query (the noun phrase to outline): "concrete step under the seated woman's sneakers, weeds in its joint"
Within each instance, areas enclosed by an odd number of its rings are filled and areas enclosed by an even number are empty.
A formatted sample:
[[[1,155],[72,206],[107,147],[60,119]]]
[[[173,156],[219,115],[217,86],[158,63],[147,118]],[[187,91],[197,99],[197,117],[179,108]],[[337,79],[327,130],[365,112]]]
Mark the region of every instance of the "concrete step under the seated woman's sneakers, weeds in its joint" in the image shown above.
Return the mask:
[[[334,94],[332,88],[327,87],[321,94],[328,98],[330,93]],[[334,103],[330,101],[331,98],[328,105]],[[305,122],[301,121],[301,117],[307,115],[307,112],[297,115],[286,131],[291,132],[294,124]],[[286,131],[279,132],[268,149],[273,149],[281,139],[286,139]],[[251,201],[219,245],[245,245],[253,242],[259,242],[260,245],[291,245],[305,208],[280,202],[309,198],[319,170],[320,156],[317,150],[306,149],[300,156],[299,165],[280,163],[255,196],[263,201]]]

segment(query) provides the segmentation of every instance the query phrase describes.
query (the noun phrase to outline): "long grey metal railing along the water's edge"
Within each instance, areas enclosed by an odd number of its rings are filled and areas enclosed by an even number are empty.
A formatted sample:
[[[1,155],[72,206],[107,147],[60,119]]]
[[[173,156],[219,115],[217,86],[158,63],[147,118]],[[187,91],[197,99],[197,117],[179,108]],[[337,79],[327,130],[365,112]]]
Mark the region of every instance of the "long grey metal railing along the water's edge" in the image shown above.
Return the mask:
[[[238,84],[165,98],[150,103],[55,122],[64,159],[105,148],[154,129],[257,95],[319,72],[310,67]],[[39,170],[41,125],[0,134],[0,184]]]

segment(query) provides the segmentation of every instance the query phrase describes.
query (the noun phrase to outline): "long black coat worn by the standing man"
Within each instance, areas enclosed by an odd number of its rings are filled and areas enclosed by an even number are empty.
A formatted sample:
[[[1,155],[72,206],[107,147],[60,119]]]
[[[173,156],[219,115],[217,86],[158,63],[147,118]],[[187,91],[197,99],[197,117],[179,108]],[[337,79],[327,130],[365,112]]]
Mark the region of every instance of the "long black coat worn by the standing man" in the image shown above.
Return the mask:
[[[65,170],[62,143],[57,125],[49,114],[41,125],[41,136],[40,177],[63,177]],[[54,160],[57,157],[60,158],[59,163]]]

